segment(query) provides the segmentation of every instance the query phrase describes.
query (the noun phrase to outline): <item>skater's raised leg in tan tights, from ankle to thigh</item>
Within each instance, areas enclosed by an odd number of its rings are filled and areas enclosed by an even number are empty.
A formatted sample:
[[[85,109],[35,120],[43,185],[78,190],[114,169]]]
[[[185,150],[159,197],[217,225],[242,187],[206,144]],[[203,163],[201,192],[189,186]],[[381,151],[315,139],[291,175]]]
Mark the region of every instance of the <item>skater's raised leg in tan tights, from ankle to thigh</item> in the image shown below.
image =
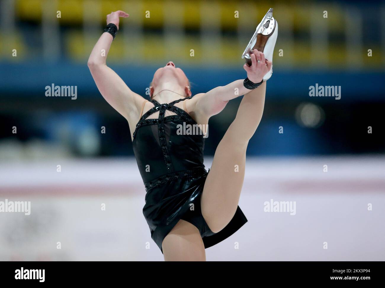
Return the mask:
[[[234,121],[215,151],[201,198],[203,217],[214,233],[230,222],[237,209],[246,148],[261,121],[265,92],[266,82],[243,96]]]

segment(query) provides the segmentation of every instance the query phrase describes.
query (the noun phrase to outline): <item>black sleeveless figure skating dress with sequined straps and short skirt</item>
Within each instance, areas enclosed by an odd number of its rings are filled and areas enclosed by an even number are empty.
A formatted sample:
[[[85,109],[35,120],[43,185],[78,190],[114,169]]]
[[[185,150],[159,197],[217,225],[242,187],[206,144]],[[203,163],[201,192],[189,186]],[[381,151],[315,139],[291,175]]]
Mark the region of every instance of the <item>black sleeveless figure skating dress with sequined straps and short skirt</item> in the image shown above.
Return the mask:
[[[154,107],[141,117],[133,134],[132,145],[146,188],[143,214],[151,238],[162,253],[162,241],[179,219],[199,229],[205,248],[228,238],[247,222],[239,206],[233,219],[218,233],[213,233],[204,221],[200,202],[208,175],[203,165],[204,137],[177,133],[183,122],[197,124],[187,112],[174,106],[189,98],[169,104],[152,100]],[[166,110],[176,115],[165,117]],[[157,119],[146,119],[157,111]]]

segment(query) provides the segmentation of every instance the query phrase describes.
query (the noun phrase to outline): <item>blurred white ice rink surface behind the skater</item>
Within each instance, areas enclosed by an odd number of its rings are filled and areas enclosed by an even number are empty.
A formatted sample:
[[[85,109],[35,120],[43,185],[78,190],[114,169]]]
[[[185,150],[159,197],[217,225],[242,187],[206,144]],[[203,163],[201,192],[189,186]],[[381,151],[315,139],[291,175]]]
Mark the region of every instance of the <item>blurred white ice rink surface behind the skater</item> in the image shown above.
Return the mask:
[[[249,157],[239,202],[248,223],[206,258],[384,261],[384,176],[383,156]],[[134,159],[3,162],[0,201],[31,201],[31,214],[0,212],[0,260],[162,261],[144,195]],[[295,215],[264,212],[271,199],[295,201]]]

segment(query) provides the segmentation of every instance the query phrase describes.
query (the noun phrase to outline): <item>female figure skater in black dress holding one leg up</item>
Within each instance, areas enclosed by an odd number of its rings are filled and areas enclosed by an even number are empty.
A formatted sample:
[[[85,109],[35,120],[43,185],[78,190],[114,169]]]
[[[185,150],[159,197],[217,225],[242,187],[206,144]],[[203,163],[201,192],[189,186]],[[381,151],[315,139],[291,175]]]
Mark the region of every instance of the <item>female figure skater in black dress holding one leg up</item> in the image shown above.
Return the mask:
[[[238,206],[246,147],[261,121],[266,91],[263,78],[270,77],[272,63],[254,49],[251,66],[244,64],[248,78],[191,97],[186,75],[169,61],[156,70],[148,101],[131,91],[101,56],[102,49],[107,55],[115,38],[119,17],[128,16],[123,11],[107,15],[107,28],[91,52],[88,67],[105,100],[128,121],[146,188],[143,214],[151,238],[166,261],[205,261],[205,248],[247,222]],[[274,44],[270,45],[269,59]],[[207,125],[211,116],[239,95],[244,97],[236,118],[207,172],[204,135],[180,135],[177,126],[184,122]]]

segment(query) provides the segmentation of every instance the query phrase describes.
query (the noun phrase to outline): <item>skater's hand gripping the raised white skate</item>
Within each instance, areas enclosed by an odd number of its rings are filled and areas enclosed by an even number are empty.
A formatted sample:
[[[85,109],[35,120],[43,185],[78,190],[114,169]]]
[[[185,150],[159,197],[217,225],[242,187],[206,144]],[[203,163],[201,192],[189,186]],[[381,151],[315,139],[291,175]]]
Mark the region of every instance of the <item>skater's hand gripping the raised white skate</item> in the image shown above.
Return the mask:
[[[257,49],[254,49],[250,53],[251,66],[246,63],[243,65],[244,70],[247,72],[247,77],[253,83],[259,83],[262,81],[263,76],[270,71],[271,61],[265,59],[264,54]],[[259,60],[259,62],[258,62]]]

